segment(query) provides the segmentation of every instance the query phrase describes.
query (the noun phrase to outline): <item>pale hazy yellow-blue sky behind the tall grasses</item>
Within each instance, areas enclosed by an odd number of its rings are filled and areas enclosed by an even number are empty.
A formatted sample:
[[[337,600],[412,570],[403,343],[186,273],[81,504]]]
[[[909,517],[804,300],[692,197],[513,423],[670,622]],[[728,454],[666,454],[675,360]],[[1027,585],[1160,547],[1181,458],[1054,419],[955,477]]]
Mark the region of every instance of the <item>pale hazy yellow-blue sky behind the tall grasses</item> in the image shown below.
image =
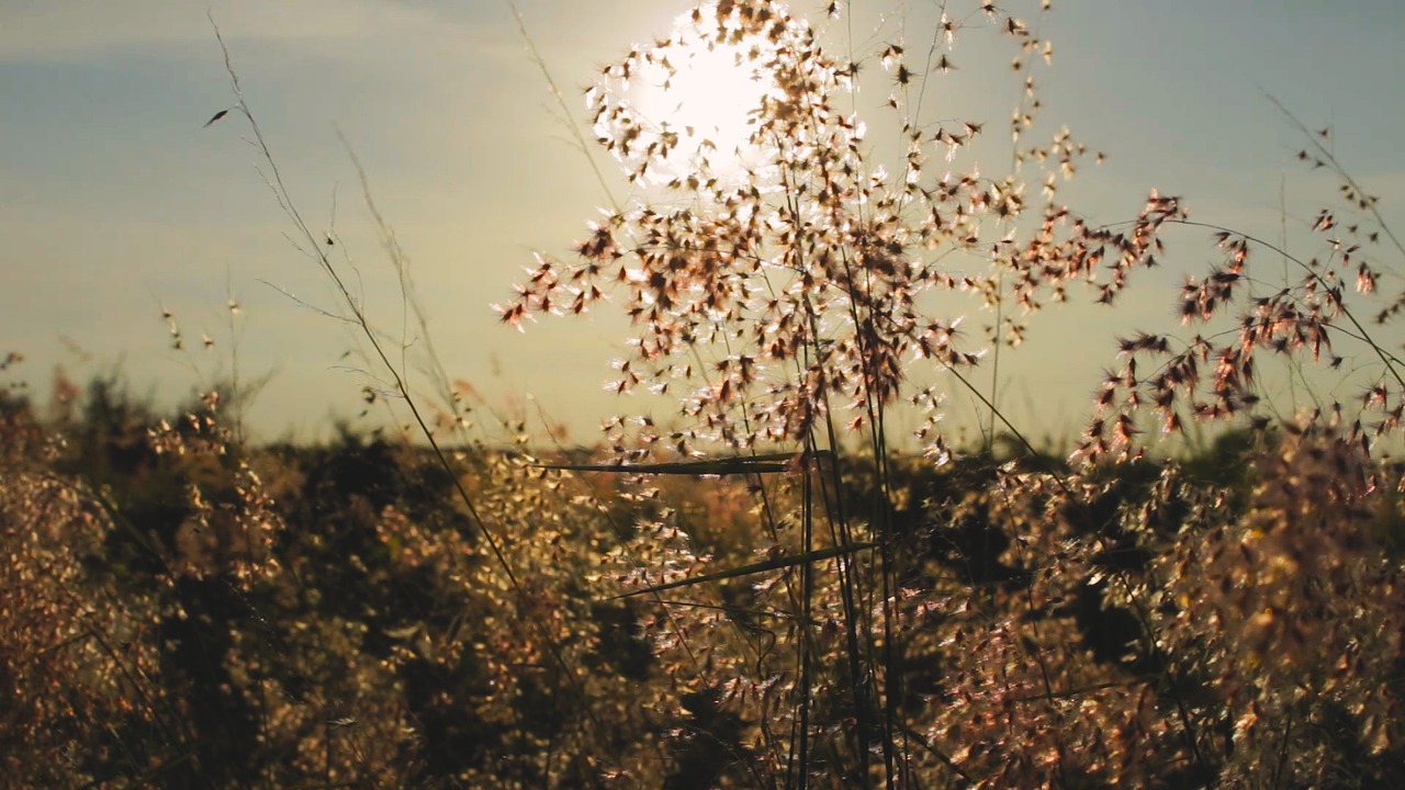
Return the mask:
[[[822,6],[791,8],[819,21]],[[0,377],[27,380],[42,403],[56,371],[79,381],[115,373],[133,392],[174,403],[237,373],[264,382],[244,415],[263,439],[326,436],[336,417],[362,410],[364,387],[382,387],[354,333],[326,315],[334,292],[299,252],[247,122],[232,114],[202,128],[233,103],[214,20],[296,208],[318,233],[336,235],[372,320],[402,326],[403,299],[353,155],[410,261],[448,374],[472,384],[485,412],[545,415],[592,441],[601,419],[631,410],[601,387],[624,322],[600,311],[518,333],[489,305],[510,297],[534,250],[569,259],[608,202],[572,142],[580,89],[691,6],[517,7],[569,115],[506,1],[0,0],[0,357],[25,357]],[[940,8],[842,7],[856,51],[926,46]],[[1333,152],[1387,219],[1405,218],[1399,0],[1055,0],[1044,15],[1037,3],[1009,7],[1038,17],[1055,48],[1038,75],[1041,129],[1068,124],[1109,155],[1065,195],[1092,219],[1130,219],[1158,188],[1182,195],[1196,219],[1300,243],[1332,183],[1295,160],[1301,135],[1269,96],[1309,127],[1331,127]],[[976,67],[979,44],[957,46],[957,62],[971,65],[933,93],[933,114],[1003,129],[1019,77]],[[592,155],[613,179],[611,160]],[[1173,233],[1166,271],[1120,311],[1040,315],[1002,363],[1002,403],[1038,426],[1031,433],[1058,433],[1086,413],[1117,333],[1175,326],[1175,283],[1215,253],[1207,233]],[[229,299],[240,306],[233,322]],[[414,356],[424,343],[410,335]],[[1066,349],[1075,358],[1057,353]],[[953,409],[969,405],[955,396]]]

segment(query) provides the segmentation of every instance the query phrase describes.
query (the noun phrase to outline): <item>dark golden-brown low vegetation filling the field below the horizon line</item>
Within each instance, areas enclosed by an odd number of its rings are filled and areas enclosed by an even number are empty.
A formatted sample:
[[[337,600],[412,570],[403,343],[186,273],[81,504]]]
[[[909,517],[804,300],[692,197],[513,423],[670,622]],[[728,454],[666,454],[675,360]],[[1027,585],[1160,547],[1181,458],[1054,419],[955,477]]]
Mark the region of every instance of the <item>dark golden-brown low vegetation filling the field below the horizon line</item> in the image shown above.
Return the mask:
[[[704,571],[754,561],[767,533],[754,482],[660,492],[462,448],[468,488],[514,524],[524,600],[423,448],[350,429],[320,447],[243,447],[205,403],[163,420],[110,381],[72,415],[45,423],[15,396],[3,408],[14,784],[785,784],[784,763],[766,770],[767,738],[790,737],[767,727],[785,699],[767,686],[794,673],[777,589],[799,569],[613,597],[639,572],[621,558],[628,524],[707,547]],[[1079,787],[1134,770],[1145,786],[1232,770],[1257,784],[1280,765],[1335,787],[1405,777],[1390,571],[1405,520],[1395,495],[1338,509],[1315,488],[1346,485],[1332,465],[1349,458],[1312,430],[1234,432],[1179,464],[1097,470],[1076,500],[1034,482],[1073,478],[1048,457],[894,457],[885,491],[868,460],[843,458],[839,499],[887,509],[902,547],[889,715],[920,752],[908,770]],[[798,477],[769,484],[773,507],[798,499]],[[1284,502],[1300,481],[1314,484],[1295,489],[1301,506]],[[1304,565],[1316,571],[1283,575]],[[549,621],[575,680],[523,611]],[[843,678],[839,613],[815,619],[813,672]],[[884,738],[877,711],[858,730],[844,683],[812,696],[833,723],[816,735],[835,741],[812,766],[822,786],[861,784],[843,749]]]

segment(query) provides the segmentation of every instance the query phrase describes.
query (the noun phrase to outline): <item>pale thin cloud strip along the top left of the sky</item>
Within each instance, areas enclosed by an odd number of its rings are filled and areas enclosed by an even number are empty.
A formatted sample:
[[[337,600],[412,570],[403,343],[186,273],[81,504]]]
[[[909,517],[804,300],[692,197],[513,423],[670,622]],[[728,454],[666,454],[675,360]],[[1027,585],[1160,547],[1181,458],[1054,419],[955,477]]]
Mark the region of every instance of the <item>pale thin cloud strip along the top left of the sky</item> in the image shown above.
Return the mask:
[[[361,44],[465,21],[431,4],[386,0],[219,0],[208,7],[191,0],[0,0],[0,62],[204,48],[207,11],[228,39],[289,44]]]

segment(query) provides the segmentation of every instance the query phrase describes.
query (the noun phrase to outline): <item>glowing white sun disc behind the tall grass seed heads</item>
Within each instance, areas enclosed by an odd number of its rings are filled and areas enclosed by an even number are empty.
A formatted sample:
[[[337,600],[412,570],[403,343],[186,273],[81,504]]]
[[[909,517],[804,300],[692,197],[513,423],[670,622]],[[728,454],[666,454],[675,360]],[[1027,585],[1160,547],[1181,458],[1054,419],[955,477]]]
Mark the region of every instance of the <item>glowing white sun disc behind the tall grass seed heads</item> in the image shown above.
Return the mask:
[[[756,114],[774,79],[757,52],[701,35],[684,15],[665,58],[643,75],[635,107],[660,131],[679,135],[670,164],[701,160],[718,174],[740,171],[754,159]]]

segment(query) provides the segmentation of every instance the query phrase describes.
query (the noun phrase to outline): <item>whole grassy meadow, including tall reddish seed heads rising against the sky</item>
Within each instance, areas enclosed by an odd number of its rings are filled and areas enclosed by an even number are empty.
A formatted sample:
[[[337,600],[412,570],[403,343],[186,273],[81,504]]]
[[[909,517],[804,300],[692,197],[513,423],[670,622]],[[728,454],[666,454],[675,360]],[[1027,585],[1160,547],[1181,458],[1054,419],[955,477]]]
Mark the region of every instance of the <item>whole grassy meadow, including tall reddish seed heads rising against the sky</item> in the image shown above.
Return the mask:
[[[1100,155],[1037,136],[1050,42],[993,4],[950,13],[929,52],[854,52],[719,0],[597,76],[577,142],[634,198],[496,305],[504,332],[627,316],[610,387],[673,409],[583,447],[513,419],[483,439],[471,387],[402,363],[230,67],[211,124],[246,125],[364,337],[368,405],[405,430],[247,441],[237,382],[174,413],[117,378],[45,405],[10,354],[4,782],[1405,782],[1405,246],[1383,207],[1284,111],[1339,183],[1305,229],[1321,256],[1155,191],[1093,226],[1059,195]],[[967,35],[1009,48],[1009,127],[922,114]],[[731,145],[639,110],[632,83],[698,52],[763,86]],[[894,162],[860,83],[891,96]],[[992,135],[1009,170],[961,171]],[[985,385],[1000,350],[1065,301],[1117,309],[1176,259],[1170,228],[1217,263],[1168,294],[1179,325],[1109,337],[1078,434],[1037,446]],[[1264,384],[1281,370],[1309,406]],[[985,408],[960,440],[955,396]]]

